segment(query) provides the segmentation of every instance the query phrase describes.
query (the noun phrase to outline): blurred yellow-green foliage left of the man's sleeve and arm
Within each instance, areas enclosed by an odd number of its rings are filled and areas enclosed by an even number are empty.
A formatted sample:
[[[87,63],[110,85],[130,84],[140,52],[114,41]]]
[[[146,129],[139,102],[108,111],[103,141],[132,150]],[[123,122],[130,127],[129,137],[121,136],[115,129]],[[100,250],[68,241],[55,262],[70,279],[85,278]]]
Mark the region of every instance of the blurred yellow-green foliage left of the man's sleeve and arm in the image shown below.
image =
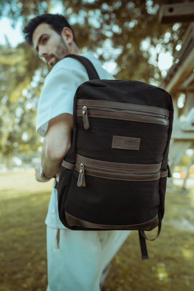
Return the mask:
[[[33,59],[29,65],[26,57]],[[26,44],[12,48],[0,46],[0,153],[7,163],[16,153],[32,154],[40,146],[35,132],[35,116],[40,94],[40,75],[37,56]],[[35,72],[35,73],[34,73]],[[35,80],[32,79],[34,75]]]

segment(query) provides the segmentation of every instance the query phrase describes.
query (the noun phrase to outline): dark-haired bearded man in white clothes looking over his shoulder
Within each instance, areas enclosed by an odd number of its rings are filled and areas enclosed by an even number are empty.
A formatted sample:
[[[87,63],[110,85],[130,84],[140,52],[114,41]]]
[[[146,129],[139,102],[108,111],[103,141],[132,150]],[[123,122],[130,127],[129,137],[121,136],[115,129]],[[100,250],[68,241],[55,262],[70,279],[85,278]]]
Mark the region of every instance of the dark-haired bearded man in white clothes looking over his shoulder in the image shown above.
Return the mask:
[[[26,40],[52,67],[45,79],[37,113],[37,132],[44,136],[36,179],[41,182],[59,175],[71,144],[73,97],[88,81],[85,68],[68,54],[81,54],[74,32],[64,16],[42,15],[24,28]],[[101,79],[113,79],[91,53],[81,54],[95,66]],[[72,231],[58,216],[57,190],[52,189],[47,224],[47,291],[99,291],[107,266],[129,231]]]

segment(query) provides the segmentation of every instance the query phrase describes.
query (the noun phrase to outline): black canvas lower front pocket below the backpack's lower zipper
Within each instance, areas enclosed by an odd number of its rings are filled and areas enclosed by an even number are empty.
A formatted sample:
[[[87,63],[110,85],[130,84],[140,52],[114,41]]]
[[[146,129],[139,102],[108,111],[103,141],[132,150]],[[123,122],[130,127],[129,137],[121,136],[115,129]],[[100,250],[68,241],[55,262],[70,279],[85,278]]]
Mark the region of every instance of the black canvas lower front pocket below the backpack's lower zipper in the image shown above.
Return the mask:
[[[144,224],[158,214],[160,179],[126,181],[85,175],[86,186],[78,187],[78,176],[74,170],[64,203],[65,219],[68,213],[97,225],[112,225],[109,229],[134,229],[132,225]]]

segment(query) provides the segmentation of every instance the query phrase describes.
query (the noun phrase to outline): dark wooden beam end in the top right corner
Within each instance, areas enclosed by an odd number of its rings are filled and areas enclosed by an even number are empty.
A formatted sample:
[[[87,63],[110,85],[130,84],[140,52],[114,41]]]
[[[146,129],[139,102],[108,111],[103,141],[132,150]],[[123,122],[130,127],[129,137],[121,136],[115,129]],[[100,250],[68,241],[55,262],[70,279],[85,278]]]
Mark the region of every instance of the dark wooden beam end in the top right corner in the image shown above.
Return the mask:
[[[161,23],[194,21],[194,3],[176,3],[162,5],[159,12]]]

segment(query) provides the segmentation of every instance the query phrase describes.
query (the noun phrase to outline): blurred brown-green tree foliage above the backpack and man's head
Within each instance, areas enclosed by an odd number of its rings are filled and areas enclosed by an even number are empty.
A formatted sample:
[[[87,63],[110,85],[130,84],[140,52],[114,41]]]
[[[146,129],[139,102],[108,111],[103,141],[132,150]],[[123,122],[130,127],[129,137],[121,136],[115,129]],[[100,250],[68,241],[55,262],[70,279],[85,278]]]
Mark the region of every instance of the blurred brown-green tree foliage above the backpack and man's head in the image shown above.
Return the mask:
[[[96,51],[103,61],[116,60],[118,78],[160,81],[159,54],[167,50],[174,55],[188,26],[186,23],[175,30],[171,24],[158,22],[160,5],[169,2],[184,0],[2,0],[0,13],[11,17],[13,24],[18,17],[23,17],[25,23],[61,3],[80,47]],[[148,47],[144,50],[145,39]]]

